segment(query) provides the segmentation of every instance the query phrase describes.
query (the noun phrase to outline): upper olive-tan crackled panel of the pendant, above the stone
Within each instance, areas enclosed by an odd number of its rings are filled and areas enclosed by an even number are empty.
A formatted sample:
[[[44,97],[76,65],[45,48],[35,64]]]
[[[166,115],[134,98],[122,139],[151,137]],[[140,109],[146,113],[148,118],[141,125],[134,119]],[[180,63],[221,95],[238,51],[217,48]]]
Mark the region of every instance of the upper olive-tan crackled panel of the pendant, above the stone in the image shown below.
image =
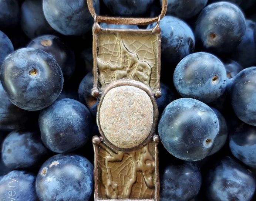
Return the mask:
[[[97,68],[101,91],[128,78],[159,89],[159,34],[103,30],[97,32]]]

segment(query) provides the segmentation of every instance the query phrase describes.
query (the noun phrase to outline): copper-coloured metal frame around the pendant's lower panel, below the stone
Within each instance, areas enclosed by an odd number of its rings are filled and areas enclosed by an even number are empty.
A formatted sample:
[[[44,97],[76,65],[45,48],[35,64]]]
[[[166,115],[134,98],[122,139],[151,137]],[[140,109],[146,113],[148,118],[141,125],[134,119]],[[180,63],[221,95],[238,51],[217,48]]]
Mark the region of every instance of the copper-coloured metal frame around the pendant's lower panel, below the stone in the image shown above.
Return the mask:
[[[152,138],[155,143],[155,198],[153,199],[141,199],[134,201],[160,201],[159,190],[160,190],[160,181],[159,181],[159,168],[158,168],[158,144],[160,138],[158,135],[154,135]],[[103,137],[94,136],[92,137],[92,144],[94,149],[94,200],[95,201],[127,201],[124,199],[101,199],[98,197],[98,145],[100,143],[106,143]]]

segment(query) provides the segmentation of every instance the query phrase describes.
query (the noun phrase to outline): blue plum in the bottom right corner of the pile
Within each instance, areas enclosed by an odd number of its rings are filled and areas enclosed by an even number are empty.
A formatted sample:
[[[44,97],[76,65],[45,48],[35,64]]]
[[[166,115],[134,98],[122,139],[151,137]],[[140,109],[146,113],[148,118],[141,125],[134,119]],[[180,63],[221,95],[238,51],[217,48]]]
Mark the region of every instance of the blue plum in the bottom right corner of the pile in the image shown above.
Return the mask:
[[[255,192],[251,172],[230,157],[222,159],[206,178],[209,201],[250,201]]]

